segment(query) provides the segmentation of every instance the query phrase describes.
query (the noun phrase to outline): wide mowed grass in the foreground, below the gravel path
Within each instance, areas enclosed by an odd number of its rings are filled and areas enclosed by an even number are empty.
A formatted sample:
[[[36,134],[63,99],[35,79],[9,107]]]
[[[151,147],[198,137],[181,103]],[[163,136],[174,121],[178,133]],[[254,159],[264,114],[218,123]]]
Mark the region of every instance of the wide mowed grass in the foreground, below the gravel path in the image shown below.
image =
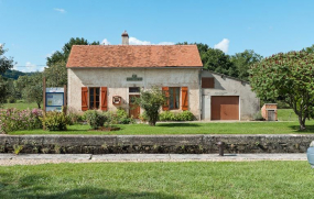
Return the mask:
[[[313,198],[307,162],[0,167],[0,198]]]

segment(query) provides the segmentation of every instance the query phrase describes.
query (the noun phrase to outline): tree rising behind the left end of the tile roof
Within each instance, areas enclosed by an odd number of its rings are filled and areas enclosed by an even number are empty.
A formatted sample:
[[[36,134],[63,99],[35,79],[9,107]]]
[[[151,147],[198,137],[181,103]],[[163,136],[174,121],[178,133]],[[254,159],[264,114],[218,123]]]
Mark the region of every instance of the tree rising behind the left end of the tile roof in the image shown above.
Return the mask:
[[[67,84],[66,63],[73,45],[99,45],[99,42],[89,43],[83,37],[72,37],[66,44],[64,44],[62,51],[57,51],[52,54],[51,57],[47,57],[46,65],[48,67],[44,71],[47,86],[54,87]],[[55,80],[57,80],[57,82]]]

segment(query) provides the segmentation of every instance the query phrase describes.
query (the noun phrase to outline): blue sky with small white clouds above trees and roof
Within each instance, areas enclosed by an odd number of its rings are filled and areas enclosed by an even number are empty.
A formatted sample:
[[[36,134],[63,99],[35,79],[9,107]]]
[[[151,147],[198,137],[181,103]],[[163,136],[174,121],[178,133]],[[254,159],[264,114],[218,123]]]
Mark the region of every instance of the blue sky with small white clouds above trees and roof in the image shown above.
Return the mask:
[[[71,37],[133,45],[202,42],[262,56],[314,44],[313,0],[0,0],[0,45],[14,69],[43,70]]]

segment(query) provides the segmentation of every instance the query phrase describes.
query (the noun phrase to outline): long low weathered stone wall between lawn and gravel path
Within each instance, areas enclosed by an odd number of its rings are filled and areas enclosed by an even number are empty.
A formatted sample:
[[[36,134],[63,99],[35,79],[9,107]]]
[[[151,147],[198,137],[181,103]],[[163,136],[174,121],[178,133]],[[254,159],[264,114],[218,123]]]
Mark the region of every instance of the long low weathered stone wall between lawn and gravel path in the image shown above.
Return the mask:
[[[289,135],[0,135],[0,153],[127,154],[304,153],[312,134]]]

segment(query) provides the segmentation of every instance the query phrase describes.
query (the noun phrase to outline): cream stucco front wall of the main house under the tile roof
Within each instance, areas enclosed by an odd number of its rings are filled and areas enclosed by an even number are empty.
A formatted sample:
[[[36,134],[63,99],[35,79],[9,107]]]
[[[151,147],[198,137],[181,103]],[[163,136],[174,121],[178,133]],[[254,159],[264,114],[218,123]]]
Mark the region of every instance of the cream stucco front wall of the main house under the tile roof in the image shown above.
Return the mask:
[[[109,111],[118,108],[112,104],[112,96],[122,97],[120,107],[128,111],[129,87],[188,87],[188,110],[199,119],[199,68],[69,68],[68,107],[82,110],[82,87],[107,87]],[[143,80],[127,81],[132,75]]]

